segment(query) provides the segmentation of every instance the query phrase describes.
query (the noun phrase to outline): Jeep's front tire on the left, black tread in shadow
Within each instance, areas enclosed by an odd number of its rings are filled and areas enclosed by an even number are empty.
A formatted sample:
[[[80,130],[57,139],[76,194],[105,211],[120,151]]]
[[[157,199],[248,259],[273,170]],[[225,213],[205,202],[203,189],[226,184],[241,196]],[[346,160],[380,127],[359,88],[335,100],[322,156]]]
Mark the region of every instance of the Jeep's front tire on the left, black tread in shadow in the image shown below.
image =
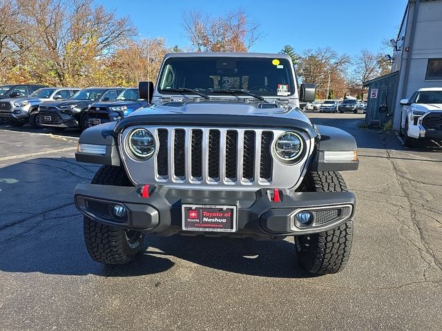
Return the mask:
[[[93,184],[130,186],[123,168],[104,165],[95,174]],[[144,234],[116,228],[84,217],[84,241],[90,257],[104,264],[126,264],[140,252]]]

